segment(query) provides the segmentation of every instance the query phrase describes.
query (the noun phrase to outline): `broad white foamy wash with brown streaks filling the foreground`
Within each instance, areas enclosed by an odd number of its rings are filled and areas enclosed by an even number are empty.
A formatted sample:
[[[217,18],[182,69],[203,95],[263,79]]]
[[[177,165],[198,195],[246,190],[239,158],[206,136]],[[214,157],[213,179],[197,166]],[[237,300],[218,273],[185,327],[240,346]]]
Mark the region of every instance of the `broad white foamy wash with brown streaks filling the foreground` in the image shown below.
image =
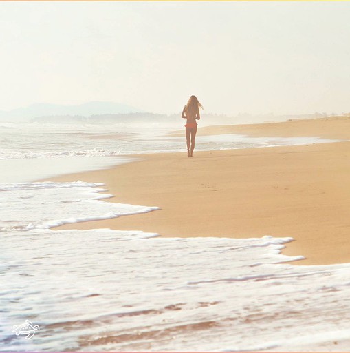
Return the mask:
[[[2,343],[10,340],[12,350],[285,351],[335,350],[334,341],[349,338],[349,264],[283,263],[298,259],[277,254],[288,238],[153,236],[8,232]],[[30,342],[10,332],[25,319],[41,327]]]

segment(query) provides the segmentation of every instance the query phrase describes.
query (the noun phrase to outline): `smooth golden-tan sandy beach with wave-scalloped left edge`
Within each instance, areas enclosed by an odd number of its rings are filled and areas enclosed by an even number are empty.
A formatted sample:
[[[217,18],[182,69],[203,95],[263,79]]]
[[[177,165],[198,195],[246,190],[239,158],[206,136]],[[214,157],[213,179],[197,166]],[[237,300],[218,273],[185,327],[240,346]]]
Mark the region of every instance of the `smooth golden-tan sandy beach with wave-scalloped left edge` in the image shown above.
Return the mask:
[[[350,118],[200,128],[204,134],[350,139]],[[161,210],[60,229],[142,230],[161,236],[292,236],[295,265],[350,262],[350,142],[146,154],[108,170],[50,179],[105,183],[105,202]],[[46,179],[47,180],[47,179]]]

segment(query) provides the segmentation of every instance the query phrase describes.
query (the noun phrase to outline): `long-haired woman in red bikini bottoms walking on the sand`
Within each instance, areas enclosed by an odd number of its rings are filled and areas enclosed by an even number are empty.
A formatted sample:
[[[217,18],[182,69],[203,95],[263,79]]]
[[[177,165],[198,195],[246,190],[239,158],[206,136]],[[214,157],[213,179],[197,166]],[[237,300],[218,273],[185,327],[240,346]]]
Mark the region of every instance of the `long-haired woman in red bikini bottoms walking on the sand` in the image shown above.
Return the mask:
[[[186,144],[187,144],[187,157],[193,157],[193,150],[195,149],[195,137],[197,133],[196,120],[201,119],[199,114],[199,107],[203,109],[196,96],[191,96],[187,104],[182,110],[181,117],[187,119],[186,122]]]

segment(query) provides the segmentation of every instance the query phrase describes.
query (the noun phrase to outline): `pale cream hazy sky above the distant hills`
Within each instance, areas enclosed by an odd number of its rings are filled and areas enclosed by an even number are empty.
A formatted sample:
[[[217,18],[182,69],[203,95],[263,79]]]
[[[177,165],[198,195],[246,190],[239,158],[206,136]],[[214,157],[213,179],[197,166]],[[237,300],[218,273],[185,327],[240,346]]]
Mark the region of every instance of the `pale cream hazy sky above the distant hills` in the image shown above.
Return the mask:
[[[0,3],[0,110],[350,112],[350,2]]]

